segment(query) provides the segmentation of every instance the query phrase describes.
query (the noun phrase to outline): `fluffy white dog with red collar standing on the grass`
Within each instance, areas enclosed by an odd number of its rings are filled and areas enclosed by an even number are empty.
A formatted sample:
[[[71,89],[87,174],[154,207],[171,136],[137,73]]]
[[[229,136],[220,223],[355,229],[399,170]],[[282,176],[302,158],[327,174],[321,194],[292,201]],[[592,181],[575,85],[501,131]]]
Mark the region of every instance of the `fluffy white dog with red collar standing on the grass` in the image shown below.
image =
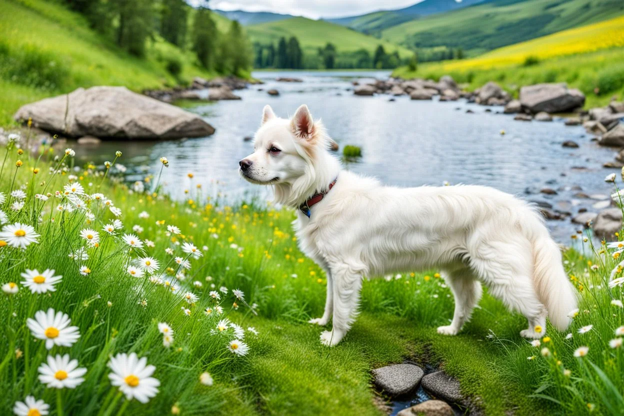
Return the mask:
[[[455,312],[441,334],[457,334],[479,302],[481,284],[529,320],[520,332],[545,334],[546,316],[568,326],[577,298],[561,253],[540,215],[512,195],[485,186],[383,186],[341,169],[329,137],[306,105],[280,119],[266,105],[254,152],[240,161],[248,181],[272,185],[278,203],[296,208],[301,250],[327,274],[321,342],[334,346],[349,330],[365,277],[442,269]]]

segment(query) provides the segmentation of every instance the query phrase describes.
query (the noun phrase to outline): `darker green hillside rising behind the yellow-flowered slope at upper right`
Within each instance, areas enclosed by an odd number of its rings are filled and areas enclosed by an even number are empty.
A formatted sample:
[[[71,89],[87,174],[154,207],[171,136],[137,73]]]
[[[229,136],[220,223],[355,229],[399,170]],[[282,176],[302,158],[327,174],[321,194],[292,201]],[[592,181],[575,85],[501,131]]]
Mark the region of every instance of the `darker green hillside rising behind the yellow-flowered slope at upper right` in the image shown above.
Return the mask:
[[[390,27],[382,38],[411,48],[462,48],[474,56],[621,14],[622,0],[487,0]]]

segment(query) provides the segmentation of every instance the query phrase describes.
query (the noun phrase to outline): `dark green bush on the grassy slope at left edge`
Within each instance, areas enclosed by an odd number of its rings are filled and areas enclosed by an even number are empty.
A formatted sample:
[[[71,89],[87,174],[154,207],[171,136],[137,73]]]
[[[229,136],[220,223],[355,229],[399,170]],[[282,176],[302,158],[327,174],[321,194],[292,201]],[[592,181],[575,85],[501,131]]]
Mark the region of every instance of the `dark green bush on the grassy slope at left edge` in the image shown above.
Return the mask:
[[[46,90],[61,89],[69,79],[69,67],[51,52],[33,45],[11,48],[0,42],[0,77]]]

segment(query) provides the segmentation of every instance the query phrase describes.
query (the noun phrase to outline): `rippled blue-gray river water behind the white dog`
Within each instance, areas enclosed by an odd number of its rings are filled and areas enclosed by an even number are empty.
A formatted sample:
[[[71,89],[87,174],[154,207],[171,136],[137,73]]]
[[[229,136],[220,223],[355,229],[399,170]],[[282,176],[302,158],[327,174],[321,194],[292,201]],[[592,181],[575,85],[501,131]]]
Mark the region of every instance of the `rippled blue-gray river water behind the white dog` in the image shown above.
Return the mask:
[[[166,156],[170,167],[163,171],[166,190],[183,198],[183,190],[202,183],[205,193],[222,191],[230,201],[257,196],[271,198],[270,190],[250,185],[238,177],[238,161],[251,153],[253,136],[265,104],[277,115],[293,114],[307,104],[315,118],[321,117],[341,147],[361,146],[363,157],[348,168],[401,186],[470,183],[494,186],[529,200],[548,201],[555,208],[576,213],[596,201],[575,200],[573,186],[588,194],[608,194],[603,178],[617,169],[602,168],[613,160],[614,151],[591,142],[582,127],[555,122],[519,122],[512,115],[495,114],[501,107],[482,107],[466,102],[412,101],[388,95],[358,97],[351,82],[383,79],[379,72],[257,72],[264,85],[236,91],[241,101],[200,104],[190,111],[202,114],[217,132],[205,138],[161,142],[105,142],[99,147],[78,147],[80,157],[102,163],[115,150],[129,167],[128,180],[140,180],[146,172],[158,175]],[[298,77],[301,83],[275,82],[279,76]],[[279,97],[266,90],[275,88]],[[486,109],[492,112],[485,112]],[[474,114],[466,114],[471,109]],[[505,135],[500,135],[505,130]],[[580,148],[563,148],[574,140]],[[578,169],[583,167],[583,169]],[[193,183],[187,173],[194,173]],[[561,189],[558,195],[524,195],[527,187]],[[549,221],[558,240],[569,243],[578,226],[566,221]]]

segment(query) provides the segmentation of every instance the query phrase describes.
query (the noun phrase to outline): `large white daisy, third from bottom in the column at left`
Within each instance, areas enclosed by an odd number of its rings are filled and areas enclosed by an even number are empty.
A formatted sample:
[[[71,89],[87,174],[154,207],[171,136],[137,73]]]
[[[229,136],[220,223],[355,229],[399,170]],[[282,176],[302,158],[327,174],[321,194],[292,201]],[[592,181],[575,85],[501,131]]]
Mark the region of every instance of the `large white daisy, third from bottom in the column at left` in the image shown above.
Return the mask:
[[[46,341],[46,348],[52,346],[71,347],[80,338],[77,326],[69,326],[71,319],[63,312],[50,308],[47,312],[37,311],[35,319],[28,318],[27,326],[32,336]]]

